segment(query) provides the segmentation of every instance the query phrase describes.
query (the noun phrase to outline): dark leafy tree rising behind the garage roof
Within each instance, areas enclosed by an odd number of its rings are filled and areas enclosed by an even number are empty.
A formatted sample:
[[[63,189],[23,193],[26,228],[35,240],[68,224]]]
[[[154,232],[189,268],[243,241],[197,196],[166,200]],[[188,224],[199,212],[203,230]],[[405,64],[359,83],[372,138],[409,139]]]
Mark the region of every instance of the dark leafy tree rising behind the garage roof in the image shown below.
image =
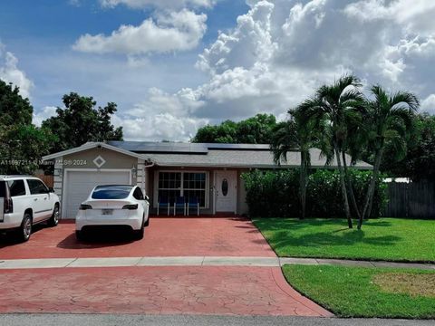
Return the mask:
[[[43,128],[53,131],[58,137],[52,150],[64,150],[81,146],[88,141],[122,140],[122,127],[111,124],[111,115],[116,104],[96,106],[92,97],[75,92],[63,96],[65,108],[57,108],[57,115],[43,121]]]

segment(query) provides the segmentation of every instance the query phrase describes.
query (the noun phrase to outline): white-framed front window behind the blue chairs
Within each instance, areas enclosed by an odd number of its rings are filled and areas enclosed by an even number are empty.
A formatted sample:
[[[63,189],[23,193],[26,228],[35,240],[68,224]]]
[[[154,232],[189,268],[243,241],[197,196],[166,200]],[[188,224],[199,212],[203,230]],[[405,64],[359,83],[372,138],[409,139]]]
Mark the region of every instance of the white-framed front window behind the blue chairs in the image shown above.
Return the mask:
[[[177,197],[185,197],[186,202],[196,202],[206,207],[206,172],[159,172],[159,201],[173,204]]]

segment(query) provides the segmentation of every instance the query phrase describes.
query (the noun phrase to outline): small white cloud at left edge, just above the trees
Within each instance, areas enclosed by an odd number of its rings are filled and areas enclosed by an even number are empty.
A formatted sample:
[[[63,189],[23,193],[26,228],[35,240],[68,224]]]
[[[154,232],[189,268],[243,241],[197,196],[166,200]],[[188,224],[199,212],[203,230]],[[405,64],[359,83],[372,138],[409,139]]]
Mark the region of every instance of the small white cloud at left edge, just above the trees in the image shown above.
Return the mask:
[[[30,98],[34,83],[18,68],[18,59],[14,53],[6,52],[5,45],[2,43],[0,43],[0,79],[4,82],[12,82],[20,88],[21,96]]]

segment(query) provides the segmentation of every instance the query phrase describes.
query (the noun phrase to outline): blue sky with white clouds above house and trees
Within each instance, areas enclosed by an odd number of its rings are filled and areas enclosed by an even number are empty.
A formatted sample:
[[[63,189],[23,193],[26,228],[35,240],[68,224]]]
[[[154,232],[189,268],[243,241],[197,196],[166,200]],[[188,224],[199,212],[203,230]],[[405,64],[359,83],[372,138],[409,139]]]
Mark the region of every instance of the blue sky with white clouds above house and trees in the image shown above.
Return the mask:
[[[435,113],[434,16],[433,0],[0,0],[0,79],[36,125],[70,91],[113,101],[129,140],[283,120],[351,72]]]

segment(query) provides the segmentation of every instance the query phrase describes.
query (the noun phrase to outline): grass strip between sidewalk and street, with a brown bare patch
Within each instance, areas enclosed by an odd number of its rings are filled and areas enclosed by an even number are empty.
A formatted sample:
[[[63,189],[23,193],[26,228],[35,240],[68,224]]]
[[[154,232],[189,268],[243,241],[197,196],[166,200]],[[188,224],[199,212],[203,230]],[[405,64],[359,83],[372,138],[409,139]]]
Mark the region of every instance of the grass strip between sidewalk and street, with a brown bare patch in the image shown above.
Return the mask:
[[[382,273],[386,274],[383,277],[388,277],[388,273],[418,273],[435,279],[432,271],[285,265],[283,272],[297,291],[337,316],[435,318],[435,297],[388,291],[375,282],[375,275]]]

